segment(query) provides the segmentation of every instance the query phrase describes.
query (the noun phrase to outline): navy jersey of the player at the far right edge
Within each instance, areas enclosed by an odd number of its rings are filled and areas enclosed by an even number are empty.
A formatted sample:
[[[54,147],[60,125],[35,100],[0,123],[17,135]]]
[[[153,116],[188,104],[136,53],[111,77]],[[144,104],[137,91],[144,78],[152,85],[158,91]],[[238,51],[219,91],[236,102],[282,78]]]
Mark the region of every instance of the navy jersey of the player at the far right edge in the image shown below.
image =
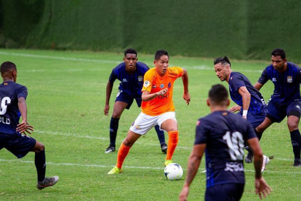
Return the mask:
[[[279,106],[285,106],[295,100],[301,100],[300,82],[301,69],[291,62],[287,62],[287,69],[280,73],[269,65],[264,69],[258,82],[265,84],[271,80],[275,86],[271,101]]]

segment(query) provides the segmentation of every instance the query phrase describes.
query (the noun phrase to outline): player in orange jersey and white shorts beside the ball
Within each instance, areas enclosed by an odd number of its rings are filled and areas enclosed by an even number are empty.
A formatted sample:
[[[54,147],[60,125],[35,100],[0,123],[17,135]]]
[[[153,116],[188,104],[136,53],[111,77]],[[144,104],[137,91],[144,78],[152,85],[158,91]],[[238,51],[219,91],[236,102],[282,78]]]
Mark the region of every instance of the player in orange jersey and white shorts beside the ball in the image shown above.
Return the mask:
[[[122,172],[122,164],[139,137],[146,134],[154,125],[168,132],[168,149],[165,166],[172,163],[172,157],[178,144],[178,123],[173,103],[173,87],[178,77],[182,77],[184,85],[183,99],[189,105],[187,71],[179,67],[169,68],[169,55],[165,50],[158,50],[154,60],[155,68],[144,75],[142,88],[142,112],[130,127],[126,138],[118,150],[117,164],[108,172],[118,174]]]

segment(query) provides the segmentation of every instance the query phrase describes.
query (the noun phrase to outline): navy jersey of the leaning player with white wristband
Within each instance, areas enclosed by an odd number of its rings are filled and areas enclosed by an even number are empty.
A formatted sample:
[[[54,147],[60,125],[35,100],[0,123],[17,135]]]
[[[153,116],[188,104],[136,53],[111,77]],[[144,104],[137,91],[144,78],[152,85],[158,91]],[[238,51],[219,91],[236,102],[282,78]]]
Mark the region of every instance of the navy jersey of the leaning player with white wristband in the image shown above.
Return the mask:
[[[246,76],[238,72],[232,72],[229,79],[230,96],[237,105],[241,106],[242,110],[242,96],[238,92],[239,88],[241,87],[246,87],[251,94],[251,101],[248,111],[254,113],[266,113],[267,107],[261,93],[254,88]]]

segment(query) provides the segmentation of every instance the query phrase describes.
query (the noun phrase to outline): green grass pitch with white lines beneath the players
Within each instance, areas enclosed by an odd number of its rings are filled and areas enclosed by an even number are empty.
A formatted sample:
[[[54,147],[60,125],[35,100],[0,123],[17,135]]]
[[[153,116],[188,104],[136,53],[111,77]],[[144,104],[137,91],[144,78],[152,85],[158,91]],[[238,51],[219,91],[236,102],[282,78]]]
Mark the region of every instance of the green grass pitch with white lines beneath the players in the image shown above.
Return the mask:
[[[269,64],[268,57],[265,62],[233,60],[232,69],[255,83]],[[194,144],[196,121],[209,112],[205,102],[208,90],[212,84],[227,86],[227,83],[215,76],[212,58],[171,56],[170,66],[187,69],[191,95],[187,106],[182,99],[182,81],[178,79],[174,87],[174,104],[179,143],[173,161],[183,167],[183,178],[173,182],[165,179],[165,155],[160,152],[154,129],[132,147],[122,174],[107,175],[117,157],[117,152],[105,154],[104,150],[109,143],[108,127],[119,82],[114,85],[109,116],[103,114],[105,88],[108,76],[122,58],[122,53],[0,49],[0,62],[14,62],[18,68],[17,82],[28,88],[28,119],[35,127],[32,136],[46,147],[46,175],[60,177],[57,185],[37,190],[34,154],[29,153],[18,160],[3,149],[0,151],[0,200],[178,199]],[[138,58],[153,67],[153,55],[138,54]],[[268,82],[261,91],[265,100],[272,91],[273,86]],[[135,103],[130,110],[124,111],[117,147],[139,113],[140,108]],[[274,157],[264,172],[264,178],[273,189],[266,200],[300,200],[301,169],[292,166],[286,119],[263,134],[261,147],[265,155]],[[205,174],[201,173],[205,169],[204,159],[191,185],[189,200],[204,199]],[[258,200],[253,165],[245,164],[245,169],[247,183],[242,200]]]

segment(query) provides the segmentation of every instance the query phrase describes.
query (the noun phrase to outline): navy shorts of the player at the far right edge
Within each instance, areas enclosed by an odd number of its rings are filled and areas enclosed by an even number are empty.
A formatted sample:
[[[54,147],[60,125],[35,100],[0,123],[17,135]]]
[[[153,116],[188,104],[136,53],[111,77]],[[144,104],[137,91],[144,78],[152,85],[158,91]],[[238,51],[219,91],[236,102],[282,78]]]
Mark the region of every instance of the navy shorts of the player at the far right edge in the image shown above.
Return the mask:
[[[280,123],[288,116],[290,111],[297,111],[301,114],[301,101],[294,101],[287,106],[277,106],[272,101],[267,103],[268,115],[274,118],[274,122]]]

